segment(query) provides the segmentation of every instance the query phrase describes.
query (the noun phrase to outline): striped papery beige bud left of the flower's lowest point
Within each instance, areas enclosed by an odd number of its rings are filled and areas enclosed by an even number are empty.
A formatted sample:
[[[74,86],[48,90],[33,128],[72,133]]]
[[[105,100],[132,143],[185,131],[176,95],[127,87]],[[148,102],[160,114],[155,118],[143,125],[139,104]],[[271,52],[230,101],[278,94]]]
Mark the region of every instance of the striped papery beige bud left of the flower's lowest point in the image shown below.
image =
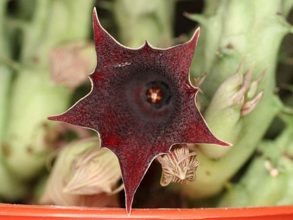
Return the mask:
[[[117,157],[106,149],[90,149],[84,152],[73,162],[72,169],[73,176],[64,187],[64,193],[112,193],[121,178]]]

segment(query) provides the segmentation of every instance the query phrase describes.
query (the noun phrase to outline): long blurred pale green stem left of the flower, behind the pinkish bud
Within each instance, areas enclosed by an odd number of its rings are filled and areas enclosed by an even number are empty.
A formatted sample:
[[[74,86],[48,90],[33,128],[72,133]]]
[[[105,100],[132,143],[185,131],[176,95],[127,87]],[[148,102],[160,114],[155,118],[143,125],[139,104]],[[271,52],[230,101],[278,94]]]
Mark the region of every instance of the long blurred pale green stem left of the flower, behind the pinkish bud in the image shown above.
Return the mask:
[[[26,0],[24,0],[26,1]],[[47,117],[65,111],[72,89],[50,79],[49,54],[68,41],[86,41],[94,0],[37,0],[32,19],[21,29],[21,66],[11,90],[5,163],[14,178],[29,180],[54,150],[56,122]]]

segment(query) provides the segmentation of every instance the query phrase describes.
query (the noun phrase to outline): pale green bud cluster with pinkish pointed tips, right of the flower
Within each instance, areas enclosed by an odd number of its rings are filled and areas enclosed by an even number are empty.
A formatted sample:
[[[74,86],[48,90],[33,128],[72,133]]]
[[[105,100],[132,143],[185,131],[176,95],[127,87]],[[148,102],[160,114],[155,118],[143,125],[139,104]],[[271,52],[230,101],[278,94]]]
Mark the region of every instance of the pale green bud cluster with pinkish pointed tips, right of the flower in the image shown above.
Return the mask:
[[[252,65],[245,74],[242,74],[244,63],[245,59],[241,62],[236,73],[221,84],[204,113],[205,120],[210,130],[219,138],[232,144],[237,142],[238,135],[242,130],[241,117],[249,114],[263,95],[263,92],[260,92],[253,97],[252,94],[254,94],[255,91],[253,92],[252,90],[257,89],[264,72],[253,81],[255,83],[252,82],[254,88],[251,88],[251,77],[254,65]],[[252,96],[252,99],[248,100],[247,94],[250,89],[250,97]],[[207,156],[214,159],[223,157],[231,149],[231,147],[227,148],[207,144],[202,144],[199,148]]]

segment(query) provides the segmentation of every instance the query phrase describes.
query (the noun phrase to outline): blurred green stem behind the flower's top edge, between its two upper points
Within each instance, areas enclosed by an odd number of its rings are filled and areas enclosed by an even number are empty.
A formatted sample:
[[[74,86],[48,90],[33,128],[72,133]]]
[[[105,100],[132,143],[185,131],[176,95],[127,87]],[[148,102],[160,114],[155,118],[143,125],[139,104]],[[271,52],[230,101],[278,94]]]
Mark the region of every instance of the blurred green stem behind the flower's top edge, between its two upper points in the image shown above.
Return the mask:
[[[172,44],[176,0],[115,0],[113,15],[122,44],[139,47],[147,40],[157,47]]]

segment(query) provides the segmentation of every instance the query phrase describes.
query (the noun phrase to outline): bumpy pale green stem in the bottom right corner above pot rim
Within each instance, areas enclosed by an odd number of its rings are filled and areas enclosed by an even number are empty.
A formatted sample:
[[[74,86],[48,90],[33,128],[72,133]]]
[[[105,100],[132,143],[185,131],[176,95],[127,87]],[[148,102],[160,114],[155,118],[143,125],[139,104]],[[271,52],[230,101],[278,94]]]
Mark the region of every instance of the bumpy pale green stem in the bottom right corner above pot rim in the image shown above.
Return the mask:
[[[293,118],[292,118],[293,119]],[[274,141],[263,141],[240,182],[228,186],[220,207],[293,204],[293,120]]]

